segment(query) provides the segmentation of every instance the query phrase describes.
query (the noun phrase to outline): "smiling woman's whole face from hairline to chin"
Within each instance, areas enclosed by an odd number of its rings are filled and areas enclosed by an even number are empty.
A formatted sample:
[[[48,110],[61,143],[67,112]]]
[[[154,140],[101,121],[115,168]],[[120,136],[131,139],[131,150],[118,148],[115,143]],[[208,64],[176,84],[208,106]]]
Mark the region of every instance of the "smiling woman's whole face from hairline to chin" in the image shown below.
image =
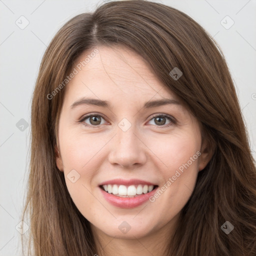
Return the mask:
[[[207,163],[199,125],[139,55],[97,49],[80,70],[89,52],[77,59],[65,87],[57,166],[98,233],[139,238],[171,228]]]

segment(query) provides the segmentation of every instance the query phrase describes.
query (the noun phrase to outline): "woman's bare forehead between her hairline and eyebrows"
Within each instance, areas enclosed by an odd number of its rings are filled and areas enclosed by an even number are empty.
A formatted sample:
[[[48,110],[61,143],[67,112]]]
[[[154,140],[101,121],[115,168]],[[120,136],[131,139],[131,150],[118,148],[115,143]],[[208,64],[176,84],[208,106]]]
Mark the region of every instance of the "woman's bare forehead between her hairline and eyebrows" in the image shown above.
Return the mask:
[[[116,96],[115,100],[131,101],[143,97],[147,100],[151,97],[178,99],[142,56],[124,46],[95,46],[76,59],[72,70],[74,68],[77,73],[65,92],[72,100],[83,95],[104,99]]]

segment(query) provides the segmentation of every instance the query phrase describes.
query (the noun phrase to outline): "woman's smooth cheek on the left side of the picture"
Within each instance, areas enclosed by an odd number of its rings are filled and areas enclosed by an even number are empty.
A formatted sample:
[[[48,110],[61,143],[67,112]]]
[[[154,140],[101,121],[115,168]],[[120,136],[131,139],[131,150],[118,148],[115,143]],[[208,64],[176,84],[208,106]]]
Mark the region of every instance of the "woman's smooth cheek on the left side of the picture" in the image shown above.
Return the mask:
[[[88,205],[95,204],[91,182],[98,168],[97,152],[102,147],[102,142],[96,141],[93,136],[78,136],[68,130],[62,134],[61,157],[67,190],[79,211],[87,217],[92,214]]]

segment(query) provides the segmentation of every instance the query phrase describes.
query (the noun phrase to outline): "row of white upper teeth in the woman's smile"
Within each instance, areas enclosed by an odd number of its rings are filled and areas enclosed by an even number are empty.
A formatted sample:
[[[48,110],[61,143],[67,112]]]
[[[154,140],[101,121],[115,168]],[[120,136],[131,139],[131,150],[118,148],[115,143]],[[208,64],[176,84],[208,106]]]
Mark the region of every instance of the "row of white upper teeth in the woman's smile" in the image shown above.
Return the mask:
[[[136,195],[147,193],[153,190],[153,185],[112,185],[112,184],[105,184],[103,188],[106,192],[116,194],[116,195]]]

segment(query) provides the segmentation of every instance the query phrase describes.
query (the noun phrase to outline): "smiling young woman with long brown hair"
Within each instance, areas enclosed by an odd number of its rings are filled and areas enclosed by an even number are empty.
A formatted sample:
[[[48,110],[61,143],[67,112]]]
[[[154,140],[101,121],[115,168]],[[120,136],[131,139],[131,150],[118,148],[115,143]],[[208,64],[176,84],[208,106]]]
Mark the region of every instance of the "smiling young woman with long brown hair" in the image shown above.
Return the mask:
[[[32,100],[32,255],[256,254],[256,170],[221,50],[143,0],[70,19]]]

